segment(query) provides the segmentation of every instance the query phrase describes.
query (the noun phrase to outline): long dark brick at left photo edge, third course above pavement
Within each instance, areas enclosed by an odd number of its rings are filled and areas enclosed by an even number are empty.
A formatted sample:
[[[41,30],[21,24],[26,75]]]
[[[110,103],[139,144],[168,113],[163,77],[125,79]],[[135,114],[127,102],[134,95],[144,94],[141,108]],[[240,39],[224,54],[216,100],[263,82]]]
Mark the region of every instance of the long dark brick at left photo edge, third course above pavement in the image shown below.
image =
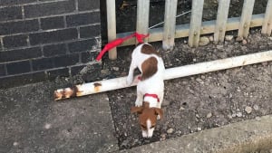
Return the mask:
[[[26,60],[42,56],[41,48],[25,48],[0,52],[0,62],[11,62],[17,60]]]

